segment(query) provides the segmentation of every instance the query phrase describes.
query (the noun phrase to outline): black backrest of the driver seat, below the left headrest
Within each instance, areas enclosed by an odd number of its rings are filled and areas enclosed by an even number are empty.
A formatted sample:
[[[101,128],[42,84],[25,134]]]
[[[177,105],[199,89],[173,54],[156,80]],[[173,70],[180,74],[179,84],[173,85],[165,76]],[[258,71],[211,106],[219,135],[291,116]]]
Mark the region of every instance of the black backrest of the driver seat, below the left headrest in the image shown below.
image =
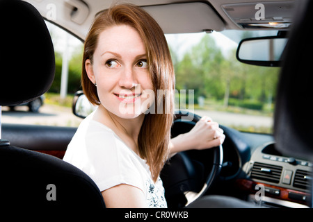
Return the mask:
[[[77,167],[51,155],[2,146],[0,169],[2,209],[104,208],[104,200],[93,180]]]

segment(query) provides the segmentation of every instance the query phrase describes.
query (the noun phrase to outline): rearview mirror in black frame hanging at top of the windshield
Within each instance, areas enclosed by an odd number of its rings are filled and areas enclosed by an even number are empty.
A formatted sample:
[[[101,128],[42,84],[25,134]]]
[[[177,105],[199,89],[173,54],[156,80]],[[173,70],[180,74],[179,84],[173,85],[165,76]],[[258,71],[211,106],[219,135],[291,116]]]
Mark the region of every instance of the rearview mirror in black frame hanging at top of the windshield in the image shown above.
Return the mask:
[[[236,51],[240,62],[250,65],[279,67],[287,38],[278,36],[255,37],[241,40]]]

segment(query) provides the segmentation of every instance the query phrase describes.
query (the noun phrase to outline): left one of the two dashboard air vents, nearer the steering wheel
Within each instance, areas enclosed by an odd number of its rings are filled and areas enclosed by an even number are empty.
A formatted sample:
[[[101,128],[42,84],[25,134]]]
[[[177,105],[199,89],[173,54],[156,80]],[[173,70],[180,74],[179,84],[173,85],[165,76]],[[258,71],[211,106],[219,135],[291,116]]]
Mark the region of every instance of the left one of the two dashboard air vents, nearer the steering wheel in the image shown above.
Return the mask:
[[[271,164],[262,164],[260,162],[255,162],[251,171],[251,178],[257,180],[265,180],[268,182],[280,182],[280,175],[282,174],[282,167],[271,165]]]

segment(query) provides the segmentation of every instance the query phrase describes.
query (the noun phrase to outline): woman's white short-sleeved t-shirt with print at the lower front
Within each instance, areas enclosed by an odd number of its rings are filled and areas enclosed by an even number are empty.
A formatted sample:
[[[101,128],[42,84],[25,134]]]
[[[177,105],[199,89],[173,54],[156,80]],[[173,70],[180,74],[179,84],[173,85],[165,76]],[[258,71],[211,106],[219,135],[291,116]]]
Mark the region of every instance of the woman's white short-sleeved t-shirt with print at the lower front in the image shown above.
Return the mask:
[[[143,191],[147,207],[167,207],[161,178],[154,183],[145,160],[93,114],[79,125],[63,160],[90,176],[100,191],[127,184]]]

